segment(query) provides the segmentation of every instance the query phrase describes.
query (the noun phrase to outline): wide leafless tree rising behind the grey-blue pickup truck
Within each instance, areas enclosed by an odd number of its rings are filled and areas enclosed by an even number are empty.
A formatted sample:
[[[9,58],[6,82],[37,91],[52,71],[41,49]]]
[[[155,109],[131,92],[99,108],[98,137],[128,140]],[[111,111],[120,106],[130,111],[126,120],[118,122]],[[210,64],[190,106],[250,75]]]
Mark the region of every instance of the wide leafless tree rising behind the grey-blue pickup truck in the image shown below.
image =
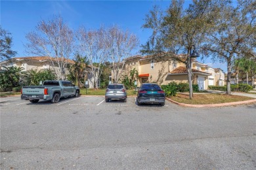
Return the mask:
[[[38,56],[49,56],[58,79],[66,79],[67,65],[74,54],[74,33],[60,16],[53,20],[42,20],[26,35],[29,43],[26,52]]]

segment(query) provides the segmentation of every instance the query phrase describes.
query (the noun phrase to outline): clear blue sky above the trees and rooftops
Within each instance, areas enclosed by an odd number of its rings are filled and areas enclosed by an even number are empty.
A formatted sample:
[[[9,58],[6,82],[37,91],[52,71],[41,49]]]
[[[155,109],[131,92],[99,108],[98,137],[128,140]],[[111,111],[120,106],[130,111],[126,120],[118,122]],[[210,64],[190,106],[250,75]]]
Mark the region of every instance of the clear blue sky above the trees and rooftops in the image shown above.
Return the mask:
[[[184,5],[191,1],[186,0]],[[62,16],[64,22],[74,30],[83,25],[88,29],[97,29],[100,25],[119,25],[139,38],[145,44],[151,35],[150,29],[143,29],[146,14],[154,5],[162,9],[169,7],[170,1],[0,1],[1,27],[12,35],[12,50],[16,57],[32,56],[24,49],[26,34],[35,30],[41,20],[49,20],[53,16]],[[140,47],[135,50],[139,53]],[[132,55],[132,56],[133,56]],[[34,55],[33,55],[34,56]],[[198,61],[226,72],[226,65],[211,61],[210,58],[198,58]]]

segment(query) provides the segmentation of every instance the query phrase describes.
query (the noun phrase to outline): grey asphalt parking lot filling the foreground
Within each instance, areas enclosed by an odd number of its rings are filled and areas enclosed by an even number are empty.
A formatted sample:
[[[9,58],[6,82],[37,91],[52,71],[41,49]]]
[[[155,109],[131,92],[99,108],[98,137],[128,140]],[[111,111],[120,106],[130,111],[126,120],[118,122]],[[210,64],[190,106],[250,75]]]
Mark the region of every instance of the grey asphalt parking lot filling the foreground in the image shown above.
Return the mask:
[[[0,99],[1,169],[255,169],[256,104]]]

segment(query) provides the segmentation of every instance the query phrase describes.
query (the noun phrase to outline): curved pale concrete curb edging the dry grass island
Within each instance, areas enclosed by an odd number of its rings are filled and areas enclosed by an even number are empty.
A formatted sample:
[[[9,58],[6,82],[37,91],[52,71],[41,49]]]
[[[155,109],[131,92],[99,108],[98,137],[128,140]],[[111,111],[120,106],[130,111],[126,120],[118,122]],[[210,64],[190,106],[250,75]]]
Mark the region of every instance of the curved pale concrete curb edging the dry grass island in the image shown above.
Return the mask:
[[[231,105],[242,105],[242,104],[248,104],[248,103],[256,103],[256,99],[253,100],[247,100],[247,101],[236,101],[236,102],[230,102],[230,103],[219,103],[219,104],[209,104],[209,105],[191,105],[191,104],[185,104],[185,103],[179,103],[177,101],[173,101],[172,99],[165,98],[172,103],[175,103],[180,106],[184,107],[196,107],[196,108],[202,108],[202,107],[224,107],[224,106],[231,106]]]

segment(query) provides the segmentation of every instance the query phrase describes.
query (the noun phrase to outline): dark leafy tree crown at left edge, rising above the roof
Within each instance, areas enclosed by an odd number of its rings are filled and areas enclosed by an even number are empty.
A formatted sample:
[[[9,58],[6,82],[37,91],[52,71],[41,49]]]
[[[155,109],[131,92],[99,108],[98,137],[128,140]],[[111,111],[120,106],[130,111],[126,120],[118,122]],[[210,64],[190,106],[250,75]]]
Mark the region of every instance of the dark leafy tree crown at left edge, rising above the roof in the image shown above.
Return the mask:
[[[11,33],[7,32],[0,25],[0,61],[10,59],[16,55],[16,52],[11,50],[11,46]]]

